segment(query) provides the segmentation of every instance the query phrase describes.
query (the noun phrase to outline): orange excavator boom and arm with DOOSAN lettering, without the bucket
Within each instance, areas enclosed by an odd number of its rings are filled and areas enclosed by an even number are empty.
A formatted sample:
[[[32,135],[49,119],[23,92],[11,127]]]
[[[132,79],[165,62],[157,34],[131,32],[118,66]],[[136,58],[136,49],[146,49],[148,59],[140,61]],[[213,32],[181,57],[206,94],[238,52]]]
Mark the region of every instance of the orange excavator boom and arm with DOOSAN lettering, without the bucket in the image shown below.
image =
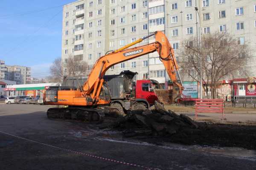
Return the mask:
[[[155,42],[148,45],[127,49],[131,45],[141,42],[143,39],[153,35],[155,35]],[[132,42],[131,44],[113,51],[110,54],[106,54],[105,56],[100,57],[96,61],[89,74],[87,82],[85,82],[83,85],[83,96],[86,96],[89,99],[87,100],[88,102],[94,103],[98,101],[99,94],[104,82],[103,76],[105,75],[106,71],[111,68],[111,66],[143,56],[145,54],[153,53],[154,51],[158,52],[170,79],[178,86],[179,94],[182,93],[183,86],[177,82],[177,76],[180,78],[180,75],[178,74],[177,61],[175,59],[174,51],[169,43],[169,40],[161,31],[156,31],[154,34],[151,34],[148,37],[144,37],[143,39]]]

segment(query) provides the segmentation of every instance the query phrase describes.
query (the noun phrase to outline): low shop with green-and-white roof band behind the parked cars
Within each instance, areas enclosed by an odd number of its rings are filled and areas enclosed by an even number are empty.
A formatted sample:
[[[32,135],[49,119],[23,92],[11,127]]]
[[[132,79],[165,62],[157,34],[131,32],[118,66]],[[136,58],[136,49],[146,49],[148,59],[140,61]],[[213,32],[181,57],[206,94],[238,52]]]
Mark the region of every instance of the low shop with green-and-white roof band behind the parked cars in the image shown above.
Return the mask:
[[[7,85],[6,96],[43,96],[46,86],[59,86],[60,83],[39,83],[23,85]]]

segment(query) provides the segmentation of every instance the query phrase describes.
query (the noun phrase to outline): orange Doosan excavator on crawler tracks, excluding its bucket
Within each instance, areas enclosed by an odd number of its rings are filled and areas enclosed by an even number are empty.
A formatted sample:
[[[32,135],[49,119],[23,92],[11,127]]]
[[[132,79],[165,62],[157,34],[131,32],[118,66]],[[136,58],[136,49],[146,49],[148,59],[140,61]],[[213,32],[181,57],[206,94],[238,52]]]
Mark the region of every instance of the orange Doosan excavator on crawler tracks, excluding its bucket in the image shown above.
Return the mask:
[[[154,35],[155,42],[129,48]],[[108,85],[103,79],[106,71],[113,65],[153,53],[154,51],[158,52],[170,79],[179,88],[179,95],[182,94],[183,86],[181,81],[180,83],[177,81],[177,77],[180,79],[180,75],[173,48],[165,34],[161,31],[156,31],[147,37],[140,38],[100,57],[94,64],[87,81],[80,88],[63,86],[47,87],[44,94],[44,104],[68,106],[67,108],[49,108],[47,111],[48,118],[76,119],[80,121],[98,121],[102,119],[111,102]]]

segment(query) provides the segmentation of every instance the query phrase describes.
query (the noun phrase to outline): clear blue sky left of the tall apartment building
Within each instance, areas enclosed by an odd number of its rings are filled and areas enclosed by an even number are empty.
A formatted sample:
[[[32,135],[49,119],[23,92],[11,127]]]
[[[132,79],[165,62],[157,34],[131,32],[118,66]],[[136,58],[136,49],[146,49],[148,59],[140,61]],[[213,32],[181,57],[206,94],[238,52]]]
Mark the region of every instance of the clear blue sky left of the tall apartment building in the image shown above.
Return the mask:
[[[31,67],[31,77],[47,77],[61,57],[62,6],[73,1],[1,0],[0,60]]]

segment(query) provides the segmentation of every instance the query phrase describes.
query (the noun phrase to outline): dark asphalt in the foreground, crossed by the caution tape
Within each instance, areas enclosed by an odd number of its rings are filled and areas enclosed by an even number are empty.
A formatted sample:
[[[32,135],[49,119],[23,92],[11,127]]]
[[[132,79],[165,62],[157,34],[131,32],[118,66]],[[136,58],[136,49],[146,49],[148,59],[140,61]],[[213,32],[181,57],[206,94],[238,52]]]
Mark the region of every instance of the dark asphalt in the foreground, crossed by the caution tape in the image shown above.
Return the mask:
[[[253,150],[141,143],[93,124],[49,120],[47,108],[0,105],[1,170],[256,169]]]

